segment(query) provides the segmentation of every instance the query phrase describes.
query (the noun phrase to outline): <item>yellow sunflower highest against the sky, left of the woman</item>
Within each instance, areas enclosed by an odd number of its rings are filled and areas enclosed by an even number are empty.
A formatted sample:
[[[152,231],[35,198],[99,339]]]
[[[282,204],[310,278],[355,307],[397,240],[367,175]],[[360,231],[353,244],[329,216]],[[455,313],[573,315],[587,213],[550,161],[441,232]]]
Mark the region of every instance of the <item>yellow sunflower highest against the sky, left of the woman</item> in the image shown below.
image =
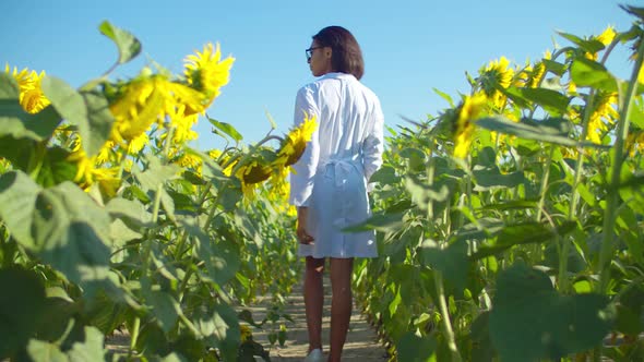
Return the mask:
[[[188,108],[187,114],[204,111],[219,95],[219,88],[228,83],[230,68],[235,58],[228,57],[222,60],[219,45],[213,49],[211,43],[206,44],[203,51],[196,51],[184,59],[184,75],[188,85],[203,95],[199,108]]]

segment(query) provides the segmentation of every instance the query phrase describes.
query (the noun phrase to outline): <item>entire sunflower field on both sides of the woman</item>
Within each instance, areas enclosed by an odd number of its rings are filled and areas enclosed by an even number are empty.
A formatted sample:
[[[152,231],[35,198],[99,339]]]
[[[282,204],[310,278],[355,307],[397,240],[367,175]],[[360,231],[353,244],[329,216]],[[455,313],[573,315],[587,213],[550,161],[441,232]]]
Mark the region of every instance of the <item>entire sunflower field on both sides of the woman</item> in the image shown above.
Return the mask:
[[[373,217],[347,231],[379,231],[354,286],[392,361],[644,361],[644,8],[623,9],[629,28],[501,57],[390,128]],[[218,45],[115,81],[141,44],[99,31],[117,60],[77,89],[0,72],[0,360],[270,360],[248,330],[284,338],[287,176],[315,119],[246,145],[205,113],[235,61]],[[200,117],[224,148],[190,147]],[[116,330],[129,348],[107,354]]]

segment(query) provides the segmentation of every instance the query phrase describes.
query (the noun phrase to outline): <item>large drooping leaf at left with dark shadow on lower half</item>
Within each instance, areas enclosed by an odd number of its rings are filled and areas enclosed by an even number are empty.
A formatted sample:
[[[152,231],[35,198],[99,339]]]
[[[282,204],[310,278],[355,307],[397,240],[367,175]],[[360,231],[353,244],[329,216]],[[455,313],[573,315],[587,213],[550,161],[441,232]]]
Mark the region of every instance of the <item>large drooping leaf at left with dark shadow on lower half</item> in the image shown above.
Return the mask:
[[[71,281],[94,267],[109,265],[107,213],[71,182],[44,190],[36,200],[35,251]]]

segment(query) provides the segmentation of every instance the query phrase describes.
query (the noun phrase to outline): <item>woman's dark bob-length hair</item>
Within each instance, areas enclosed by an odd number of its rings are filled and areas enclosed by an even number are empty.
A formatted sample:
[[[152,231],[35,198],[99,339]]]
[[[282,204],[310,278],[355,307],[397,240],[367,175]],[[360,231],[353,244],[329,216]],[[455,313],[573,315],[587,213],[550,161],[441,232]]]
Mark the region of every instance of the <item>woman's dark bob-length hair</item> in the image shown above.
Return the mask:
[[[354,74],[358,80],[365,73],[360,45],[354,35],[342,26],[327,26],[313,35],[322,47],[331,47],[331,68],[334,72]]]

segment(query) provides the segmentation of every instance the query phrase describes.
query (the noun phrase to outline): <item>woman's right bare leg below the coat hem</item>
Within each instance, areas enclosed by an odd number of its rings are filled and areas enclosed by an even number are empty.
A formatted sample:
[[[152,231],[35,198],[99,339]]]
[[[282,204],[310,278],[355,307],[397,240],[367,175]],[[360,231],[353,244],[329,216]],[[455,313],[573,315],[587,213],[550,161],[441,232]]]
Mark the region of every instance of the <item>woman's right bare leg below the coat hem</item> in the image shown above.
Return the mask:
[[[331,349],[329,361],[339,362],[351,318],[354,258],[331,258]]]

